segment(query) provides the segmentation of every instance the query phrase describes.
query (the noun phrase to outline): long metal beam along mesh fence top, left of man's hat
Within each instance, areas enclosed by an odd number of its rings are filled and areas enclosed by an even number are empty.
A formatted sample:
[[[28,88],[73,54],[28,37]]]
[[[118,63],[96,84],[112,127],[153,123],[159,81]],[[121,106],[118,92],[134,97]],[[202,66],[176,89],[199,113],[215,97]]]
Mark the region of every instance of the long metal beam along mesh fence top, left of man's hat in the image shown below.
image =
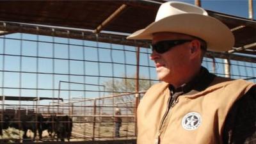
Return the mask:
[[[3,23],[6,26],[3,26]],[[113,44],[122,44],[130,46],[140,46],[140,47],[149,47],[149,42],[146,41],[137,41],[137,40],[126,40],[128,35],[114,35],[108,33],[99,33],[97,37],[95,33],[86,29],[74,29],[74,28],[54,28],[47,26],[35,26],[29,24],[19,24],[15,22],[1,22],[0,21],[0,30],[6,30],[12,33],[28,33],[34,35],[45,35],[45,36],[58,36],[63,38],[76,38],[79,40],[91,40],[98,42],[110,42]]]

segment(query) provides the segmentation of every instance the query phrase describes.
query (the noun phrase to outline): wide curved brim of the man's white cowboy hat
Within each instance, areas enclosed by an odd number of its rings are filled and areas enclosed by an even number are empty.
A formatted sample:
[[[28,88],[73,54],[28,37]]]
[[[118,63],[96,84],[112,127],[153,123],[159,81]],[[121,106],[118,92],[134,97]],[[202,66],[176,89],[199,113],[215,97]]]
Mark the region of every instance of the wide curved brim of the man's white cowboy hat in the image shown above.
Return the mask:
[[[225,24],[213,17],[196,13],[182,13],[152,22],[127,39],[152,40],[154,33],[172,32],[196,36],[205,40],[207,50],[223,52],[234,46],[234,35]]]

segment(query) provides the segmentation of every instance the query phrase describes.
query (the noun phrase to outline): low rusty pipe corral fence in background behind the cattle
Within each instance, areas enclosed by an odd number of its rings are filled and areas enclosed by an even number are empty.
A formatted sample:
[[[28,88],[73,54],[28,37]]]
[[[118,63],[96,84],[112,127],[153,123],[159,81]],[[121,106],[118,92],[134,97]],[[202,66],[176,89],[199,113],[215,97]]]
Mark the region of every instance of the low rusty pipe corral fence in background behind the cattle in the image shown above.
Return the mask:
[[[57,100],[57,102],[50,102],[49,105],[5,104],[1,114],[4,113],[4,115],[12,118],[8,121],[12,128],[3,130],[3,135],[1,136],[3,141],[1,142],[31,141],[34,136],[33,130],[26,132],[28,137],[31,138],[22,138],[22,134],[24,134],[23,128],[30,128],[31,125],[29,123],[35,124],[35,128],[39,127],[36,124],[56,125],[52,116],[68,116],[71,118],[72,134],[70,141],[134,140],[136,139],[136,115],[134,115],[136,103],[138,103],[138,98],[143,96],[144,93],[119,93],[94,99],[76,98],[67,100],[69,102]],[[116,108],[120,109],[120,115],[115,114]],[[38,115],[36,114],[42,115],[44,120],[38,120]],[[118,137],[115,135],[116,117],[122,118],[122,126],[119,130],[120,136]],[[38,121],[33,120],[34,118]],[[64,120],[62,123],[68,123],[68,121]],[[7,123],[3,120],[2,124],[5,125]],[[21,127],[20,129],[19,126]],[[60,127],[60,125],[58,126]],[[56,129],[58,127],[55,127],[52,133],[57,133]],[[66,137],[64,140],[68,141]],[[35,141],[58,140],[56,135],[50,135],[48,127],[44,127],[42,139],[39,140],[37,136]]]

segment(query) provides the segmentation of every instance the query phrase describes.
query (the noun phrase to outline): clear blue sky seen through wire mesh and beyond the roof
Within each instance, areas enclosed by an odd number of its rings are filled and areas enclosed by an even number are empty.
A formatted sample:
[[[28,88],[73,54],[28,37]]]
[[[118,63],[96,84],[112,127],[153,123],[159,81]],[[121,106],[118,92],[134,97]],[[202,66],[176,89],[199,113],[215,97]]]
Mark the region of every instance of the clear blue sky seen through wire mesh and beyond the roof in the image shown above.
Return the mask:
[[[185,1],[194,3],[194,1]],[[202,1],[202,7],[239,17],[248,17],[248,1]],[[253,1],[253,12],[255,19],[256,1]],[[22,40],[19,40],[22,39]],[[40,41],[40,42],[38,42]],[[54,44],[55,43],[55,44]],[[95,49],[98,47],[98,49]],[[122,51],[122,50],[126,51]],[[141,48],[140,55],[140,76],[156,79],[154,63],[148,59],[149,49]],[[9,54],[3,56],[3,54]],[[24,57],[20,57],[20,55]],[[54,60],[52,59],[54,58]],[[68,61],[70,60],[70,61]],[[0,95],[22,95],[35,97],[102,97],[108,95],[103,92],[105,81],[109,77],[132,77],[136,72],[136,48],[126,45],[115,45],[107,43],[96,43],[83,40],[74,40],[67,38],[54,38],[52,36],[36,36],[28,34],[15,33],[6,36],[0,36],[0,68],[13,72],[0,72],[0,86],[10,88],[42,88],[58,89],[61,86],[60,93],[58,90],[19,90],[19,89],[0,89]],[[21,62],[20,62],[21,61]],[[99,61],[100,64],[98,63]],[[210,72],[213,72],[210,59],[205,59],[203,65]],[[223,73],[222,60],[216,60],[216,73]],[[106,63],[108,62],[108,63]],[[113,64],[111,64],[113,63]],[[127,65],[121,65],[126,63]],[[255,63],[243,63],[232,61],[234,65],[241,65],[239,68],[232,68],[233,74],[243,76],[255,76]],[[251,67],[251,68],[245,68]],[[27,73],[20,73],[27,72]],[[40,74],[36,74],[40,72]],[[52,76],[52,73],[56,73]],[[72,74],[72,76],[68,76]],[[86,76],[84,76],[84,74]],[[105,76],[105,77],[94,77]],[[243,77],[242,77],[243,78]],[[74,83],[61,83],[60,81],[70,81]],[[92,84],[92,85],[90,85]],[[99,86],[96,86],[99,85]],[[65,89],[76,89],[81,91],[67,92]],[[83,92],[86,90],[87,92]],[[86,96],[84,96],[86,95]],[[7,102],[7,101],[6,101]],[[7,102],[11,104],[12,102]],[[22,104],[31,104],[31,102],[22,102]],[[41,102],[41,104],[47,104]]]

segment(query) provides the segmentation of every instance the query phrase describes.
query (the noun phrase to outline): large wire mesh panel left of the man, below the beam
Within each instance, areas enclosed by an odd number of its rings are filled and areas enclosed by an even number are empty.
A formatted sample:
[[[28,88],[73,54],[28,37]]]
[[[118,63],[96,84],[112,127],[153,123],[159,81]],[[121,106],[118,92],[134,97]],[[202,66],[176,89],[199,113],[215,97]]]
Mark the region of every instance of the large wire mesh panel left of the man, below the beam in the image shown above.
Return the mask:
[[[42,114],[43,122],[52,125],[53,131],[57,131],[54,125],[60,116],[72,118],[71,141],[113,139],[116,107],[122,110],[120,138],[135,138],[134,94],[122,96],[125,99],[104,98],[134,93],[135,47],[97,42],[97,38],[92,42],[25,33],[3,35],[0,43],[1,112],[5,115],[12,107],[19,113],[20,127],[14,127],[23,131],[19,139],[24,139],[26,131],[20,115],[31,113]],[[148,65],[141,67],[147,70]],[[156,80],[144,76],[140,81],[145,83],[140,90],[146,90],[151,83],[148,81]],[[21,113],[17,109],[32,111]],[[51,129],[42,129],[41,140],[57,140],[57,134],[49,136]]]

